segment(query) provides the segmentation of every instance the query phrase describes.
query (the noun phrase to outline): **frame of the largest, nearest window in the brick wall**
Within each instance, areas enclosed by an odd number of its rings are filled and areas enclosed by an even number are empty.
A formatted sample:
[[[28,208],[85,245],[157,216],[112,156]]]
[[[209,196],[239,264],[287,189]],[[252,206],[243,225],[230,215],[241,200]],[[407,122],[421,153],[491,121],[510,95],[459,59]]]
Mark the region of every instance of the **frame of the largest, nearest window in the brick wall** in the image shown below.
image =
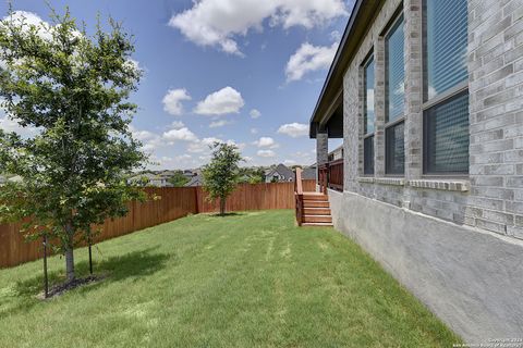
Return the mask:
[[[427,83],[427,1],[429,0],[422,0],[422,25],[421,25],[421,44],[422,44],[422,54],[421,54],[421,61],[422,61],[422,69],[421,69],[421,88],[422,88],[422,107],[421,107],[421,113],[422,113],[422,134],[421,134],[421,140],[422,140],[422,177],[423,178],[458,178],[458,179],[463,179],[463,178],[469,178],[470,177],[470,147],[469,147],[469,170],[467,172],[428,172],[428,149],[427,149],[427,140],[426,139],[426,132],[428,127],[428,123],[425,121],[426,117],[428,116],[428,111],[433,107],[436,107],[438,104],[442,104],[445,102],[448,102],[454,97],[459,97],[461,94],[466,92],[470,98],[470,92],[469,92],[469,78],[457,84],[453,87],[450,87],[449,89],[442,91],[441,94],[437,95],[436,97],[429,99],[428,95],[426,95],[425,90],[425,84]],[[469,32],[469,18],[466,17],[466,23],[467,23],[467,32]],[[467,66],[467,75],[470,76],[469,73],[469,66]],[[469,99],[470,100],[470,99]],[[471,111],[469,110],[469,129],[470,129],[470,115]]]

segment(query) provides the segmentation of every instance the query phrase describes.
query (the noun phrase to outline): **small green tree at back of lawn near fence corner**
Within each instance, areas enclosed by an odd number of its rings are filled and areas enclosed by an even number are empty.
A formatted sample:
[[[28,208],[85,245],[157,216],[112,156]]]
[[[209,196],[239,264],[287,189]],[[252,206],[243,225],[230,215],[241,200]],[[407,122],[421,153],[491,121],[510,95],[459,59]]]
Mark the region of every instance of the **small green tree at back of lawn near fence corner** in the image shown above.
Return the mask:
[[[209,199],[220,200],[220,215],[226,214],[227,197],[238,185],[241,161],[242,157],[235,145],[215,142],[210,163],[203,169],[204,189]]]

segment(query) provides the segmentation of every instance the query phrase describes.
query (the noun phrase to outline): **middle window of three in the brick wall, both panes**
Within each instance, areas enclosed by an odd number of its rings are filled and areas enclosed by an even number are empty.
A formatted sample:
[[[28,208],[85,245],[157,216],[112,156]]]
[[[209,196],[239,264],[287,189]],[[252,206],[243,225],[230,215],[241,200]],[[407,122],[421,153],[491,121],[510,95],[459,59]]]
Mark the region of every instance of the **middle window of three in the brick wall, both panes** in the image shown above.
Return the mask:
[[[405,172],[403,25],[403,15],[400,15],[385,36],[385,172],[400,175]]]

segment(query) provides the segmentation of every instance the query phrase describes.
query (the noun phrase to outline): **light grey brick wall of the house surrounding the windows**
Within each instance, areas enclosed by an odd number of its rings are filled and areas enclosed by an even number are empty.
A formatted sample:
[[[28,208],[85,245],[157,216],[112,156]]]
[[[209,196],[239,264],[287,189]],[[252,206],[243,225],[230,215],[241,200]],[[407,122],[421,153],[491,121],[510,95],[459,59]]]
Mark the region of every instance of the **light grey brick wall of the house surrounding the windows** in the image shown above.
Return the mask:
[[[523,238],[523,1],[469,1],[471,166],[464,178],[423,176],[422,0],[404,0],[405,175],[385,177],[386,1],[343,79],[345,190],[457,224]],[[362,64],[373,51],[375,172],[363,176]]]

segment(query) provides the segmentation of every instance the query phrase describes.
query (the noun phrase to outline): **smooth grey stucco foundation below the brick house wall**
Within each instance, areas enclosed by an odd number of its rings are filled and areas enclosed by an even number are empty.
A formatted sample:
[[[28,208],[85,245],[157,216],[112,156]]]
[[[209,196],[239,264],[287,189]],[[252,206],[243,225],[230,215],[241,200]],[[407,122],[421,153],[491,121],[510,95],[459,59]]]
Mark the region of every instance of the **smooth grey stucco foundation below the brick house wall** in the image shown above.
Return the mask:
[[[335,228],[469,343],[523,338],[523,241],[329,190]]]

